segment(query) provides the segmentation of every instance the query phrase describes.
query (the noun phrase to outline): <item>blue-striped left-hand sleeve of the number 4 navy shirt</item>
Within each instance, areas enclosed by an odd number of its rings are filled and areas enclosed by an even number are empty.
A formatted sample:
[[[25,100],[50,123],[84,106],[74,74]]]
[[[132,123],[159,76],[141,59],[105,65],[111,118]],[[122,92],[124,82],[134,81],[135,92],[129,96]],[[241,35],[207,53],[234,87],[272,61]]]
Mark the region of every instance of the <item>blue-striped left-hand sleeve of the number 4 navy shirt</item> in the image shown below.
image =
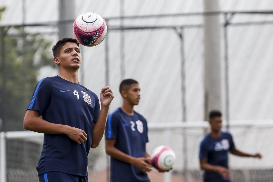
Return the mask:
[[[38,110],[41,115],[50,103],[51,88],[52,84],[49,79],[41,79],[35,87],[28,110]]]

